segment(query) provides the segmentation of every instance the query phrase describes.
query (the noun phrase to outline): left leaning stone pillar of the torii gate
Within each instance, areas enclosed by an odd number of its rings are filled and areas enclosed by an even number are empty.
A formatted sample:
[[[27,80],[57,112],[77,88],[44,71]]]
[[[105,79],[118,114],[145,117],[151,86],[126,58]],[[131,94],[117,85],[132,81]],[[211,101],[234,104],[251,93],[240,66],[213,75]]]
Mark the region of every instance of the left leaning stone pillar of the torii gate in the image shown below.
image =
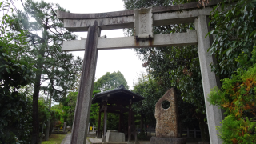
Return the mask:
[[[86,144],[91,97],[93,94],[95,69],[98,57],[97,42],[100,33],[101,30],[96,22],[94,23],[94,26],[90,26],[88,29],[70,144]]]

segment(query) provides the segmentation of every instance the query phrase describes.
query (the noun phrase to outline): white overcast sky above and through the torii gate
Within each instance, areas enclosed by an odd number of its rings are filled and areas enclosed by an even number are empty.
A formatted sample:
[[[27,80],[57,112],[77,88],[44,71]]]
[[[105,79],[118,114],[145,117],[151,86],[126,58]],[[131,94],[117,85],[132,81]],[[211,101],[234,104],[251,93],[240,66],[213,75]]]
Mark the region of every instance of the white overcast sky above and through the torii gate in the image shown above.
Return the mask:
[[[20,0],[13,1],[18,9],[23,10]],[[22,1],[25,2],[25,0]],[[66,10],[70,10],[71,13],[102,13],[124,10],[122,0],[45,0],[45,2],[58,3]],[[87,32],[76,34],[79,37],[87,37]],[[124,37],[122,30],[102,30],[101,35],[106,35],[107,38]],[[72,53],[81,58],[84,56],[84,52],[81,51]],[[130,89],[133,89],[133,85],[137,82],[138,74],[146,72],[146,69],[142,67],[142,62],[138,60],[132,49],[99,50],[95,77],[100,78],[106,72],[112,73],[118,70],[126,78]]]

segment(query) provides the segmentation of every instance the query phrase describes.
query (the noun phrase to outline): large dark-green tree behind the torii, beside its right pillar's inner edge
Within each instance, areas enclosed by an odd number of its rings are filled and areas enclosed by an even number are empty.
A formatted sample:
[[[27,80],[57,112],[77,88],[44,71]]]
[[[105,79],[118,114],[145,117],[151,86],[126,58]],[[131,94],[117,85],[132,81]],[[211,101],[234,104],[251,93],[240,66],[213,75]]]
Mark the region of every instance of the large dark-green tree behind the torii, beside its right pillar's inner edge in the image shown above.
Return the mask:
[[[134,2],[125,0],[126,10],[150,7],[150,6],[170,6],[194,1],[154,1],[154,3],[146,1]],[[152,5],[153,4],[153,5]],[[191,24],[174,24],[167,26],[154,26],[154,34],[170,34],[182,33],[187,29],[194,30],[194,23]],[[127,31],[127,30],[126,30]],[[127,34],[133,34],[128,30]],[[202,89],[202,77],[199,66],[198,48],[197,46],[169,46],[169,47],[149,47],[134,49],[143,62],[142,66],[147,67],[150,76],[158,84],[158,89],[162,89],[162,95],[170,87],[176,87],[180,91],[180,99],[178,105],[182,103],[190,104],[186,109],[182,110],[184,114],[193,114],[197,119],[202,133],[202,141],[208,141],[209,136],[206,133],[206,110],[204,94]],[[183,108],[183,107],[182,107]],[[189,118],[186,118],[189,122]]]

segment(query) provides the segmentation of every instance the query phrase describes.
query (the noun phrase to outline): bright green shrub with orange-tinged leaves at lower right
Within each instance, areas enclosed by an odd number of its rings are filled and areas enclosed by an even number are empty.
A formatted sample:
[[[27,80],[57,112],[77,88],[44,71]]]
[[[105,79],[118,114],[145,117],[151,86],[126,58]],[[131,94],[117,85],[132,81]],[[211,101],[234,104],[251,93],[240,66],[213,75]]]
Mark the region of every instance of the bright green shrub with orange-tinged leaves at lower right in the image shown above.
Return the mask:
[[[256,142],[256,46],[250,55],[240,54],[236,61],[243,67],[222,79],[222,89],[215,87],[209,94],[208,101],[225,110],[226,117],[218,126],[224,143]]]

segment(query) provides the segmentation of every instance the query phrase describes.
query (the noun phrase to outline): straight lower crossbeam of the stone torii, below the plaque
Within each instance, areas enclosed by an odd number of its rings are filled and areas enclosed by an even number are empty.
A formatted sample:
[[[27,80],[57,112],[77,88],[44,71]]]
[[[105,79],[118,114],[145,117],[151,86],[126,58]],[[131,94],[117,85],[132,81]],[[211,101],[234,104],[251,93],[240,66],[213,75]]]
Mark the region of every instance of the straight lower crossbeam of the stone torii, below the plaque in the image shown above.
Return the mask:
[[[134,37],[121,38],[98,38],[98,50],[110,49],[126,49],[126,48],[141,48],[141,47],[158,47],[158,46],[185,46],[197,45],[198,37],[195,30],[190,30],[188,33],[174,34],[155,34],[154,39],[137,41]],[[62,50],[64,51],[81,51],[86,45],[86,38],[82,40],[64,41]]]

